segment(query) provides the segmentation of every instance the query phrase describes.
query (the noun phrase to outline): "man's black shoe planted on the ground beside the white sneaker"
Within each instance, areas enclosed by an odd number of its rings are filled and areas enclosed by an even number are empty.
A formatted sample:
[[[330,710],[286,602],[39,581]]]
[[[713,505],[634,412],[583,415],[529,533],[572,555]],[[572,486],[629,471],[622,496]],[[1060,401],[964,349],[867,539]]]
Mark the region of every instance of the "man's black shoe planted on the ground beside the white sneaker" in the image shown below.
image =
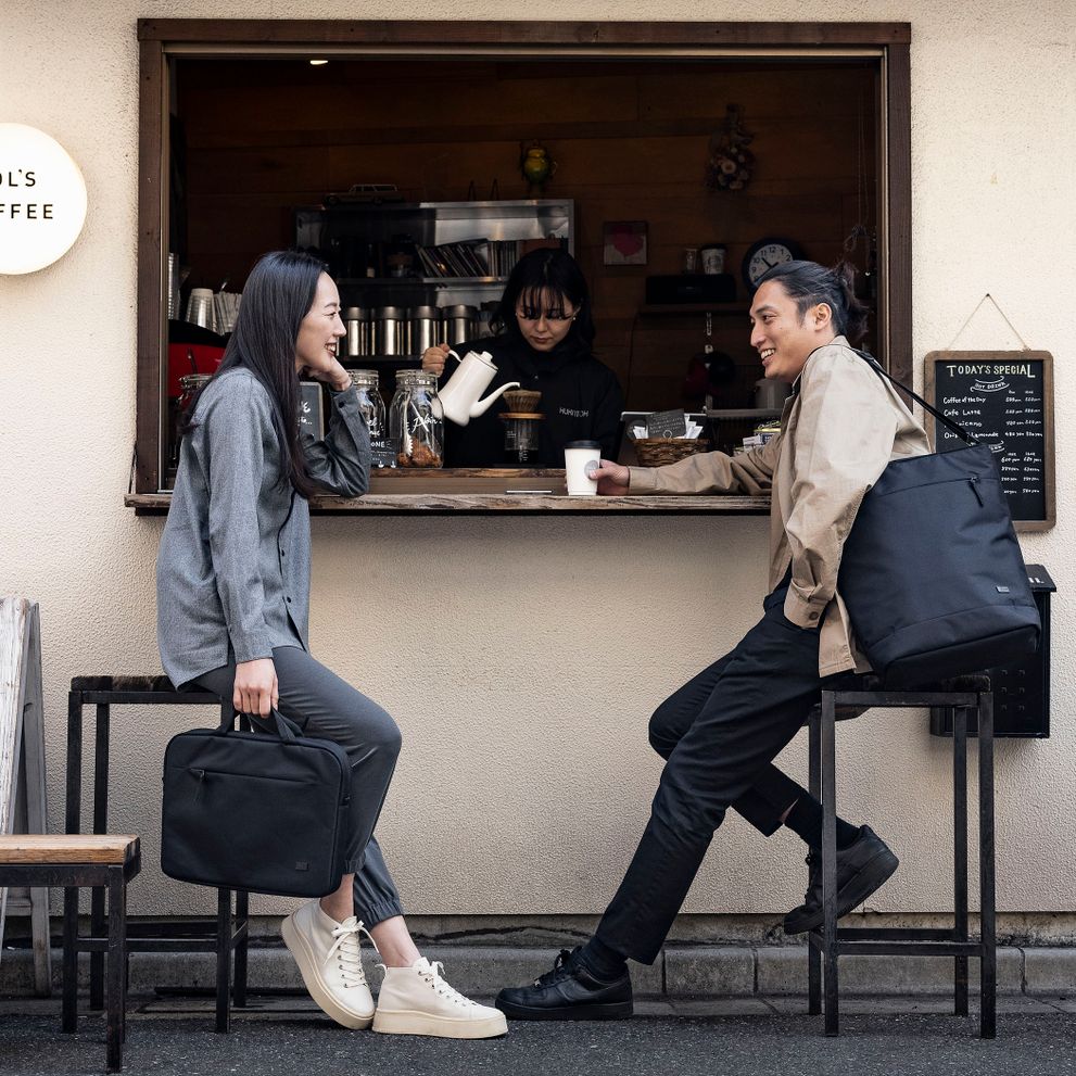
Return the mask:
[[[560,950],[552,972],[531,986],[509,987],[494,1004],[510,1020],[626,1020],[632,1014],[632,980],[624,972],[606,983],[580,960],[582,946]]]

